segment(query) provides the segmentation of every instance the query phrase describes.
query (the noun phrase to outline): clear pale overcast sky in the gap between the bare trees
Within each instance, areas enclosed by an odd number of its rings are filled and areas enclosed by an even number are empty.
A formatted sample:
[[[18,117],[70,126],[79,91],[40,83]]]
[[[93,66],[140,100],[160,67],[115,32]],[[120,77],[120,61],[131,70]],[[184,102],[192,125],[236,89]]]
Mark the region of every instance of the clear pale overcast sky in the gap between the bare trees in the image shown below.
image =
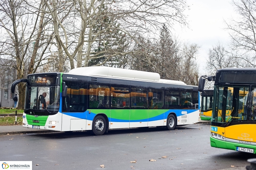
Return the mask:
[[[224,19],[228,21],[231,17],[236,18],[231,0],[188,0],[190,10],[188,15],[189,28],[174,27],[172,33],[178,35],[180,40],[188,43],[196,43],[201,46],[198,53],[198,64],[200,75],[204,73],[206,58],[209,48],[220,41],[227,44],[229,39],[228,31],[224,28]]]

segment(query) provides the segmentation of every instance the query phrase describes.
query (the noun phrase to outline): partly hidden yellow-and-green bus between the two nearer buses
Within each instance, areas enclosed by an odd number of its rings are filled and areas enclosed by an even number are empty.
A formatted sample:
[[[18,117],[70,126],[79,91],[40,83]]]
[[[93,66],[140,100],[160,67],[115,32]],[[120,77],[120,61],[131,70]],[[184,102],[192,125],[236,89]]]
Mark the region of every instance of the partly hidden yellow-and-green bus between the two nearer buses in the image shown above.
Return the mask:
[[[202,91],[201,102],[201,120],[212,120],[213,89]]]

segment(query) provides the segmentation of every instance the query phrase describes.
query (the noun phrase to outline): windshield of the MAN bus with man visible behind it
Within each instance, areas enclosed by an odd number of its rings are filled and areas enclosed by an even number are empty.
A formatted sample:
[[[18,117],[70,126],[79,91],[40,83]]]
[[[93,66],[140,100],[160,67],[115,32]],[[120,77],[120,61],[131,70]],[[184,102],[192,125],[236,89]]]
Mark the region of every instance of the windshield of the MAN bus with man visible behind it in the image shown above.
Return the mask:
[[[60,85],[56,85],[57,75],[29,76],[26,88],[25,111],[58,112],[60,108]]]

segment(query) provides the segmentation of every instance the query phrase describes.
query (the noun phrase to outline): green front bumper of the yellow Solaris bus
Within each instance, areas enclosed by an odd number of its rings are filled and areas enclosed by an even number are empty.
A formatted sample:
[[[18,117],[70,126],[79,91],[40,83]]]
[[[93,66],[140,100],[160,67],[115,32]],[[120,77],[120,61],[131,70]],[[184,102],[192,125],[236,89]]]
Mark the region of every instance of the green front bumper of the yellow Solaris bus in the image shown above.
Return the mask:
[[[215,147],[215,148],[222,148],[222,149],[229,149],[229,150],[236,151],[236,147],[238,146],[238,147],[253,149],[254,150],[253,153],[256,154],[256,146],[255,145],[222,141],[219,139],[215,139],[212,136],[210,136],[210,141],[211,141],[211,146]]]

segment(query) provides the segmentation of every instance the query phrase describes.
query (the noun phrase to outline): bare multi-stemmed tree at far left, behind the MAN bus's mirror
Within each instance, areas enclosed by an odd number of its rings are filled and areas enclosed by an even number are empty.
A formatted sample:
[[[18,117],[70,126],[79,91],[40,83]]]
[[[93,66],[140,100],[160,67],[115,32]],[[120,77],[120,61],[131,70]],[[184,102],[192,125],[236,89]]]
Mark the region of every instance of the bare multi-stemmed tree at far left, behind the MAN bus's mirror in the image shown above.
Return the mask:
[[[44,1],[27,2],[26,0],[0,1],[0,55],[2,58],[15,61],[8,65],[17,70],[17,79],[26,78],[28,73],[35,73],[41,62],[51,36],[47,36],[45,25]],[[13,63],[13,62],[12,62]],[[20,83],[19,106],[24,106],[25,84]]]

